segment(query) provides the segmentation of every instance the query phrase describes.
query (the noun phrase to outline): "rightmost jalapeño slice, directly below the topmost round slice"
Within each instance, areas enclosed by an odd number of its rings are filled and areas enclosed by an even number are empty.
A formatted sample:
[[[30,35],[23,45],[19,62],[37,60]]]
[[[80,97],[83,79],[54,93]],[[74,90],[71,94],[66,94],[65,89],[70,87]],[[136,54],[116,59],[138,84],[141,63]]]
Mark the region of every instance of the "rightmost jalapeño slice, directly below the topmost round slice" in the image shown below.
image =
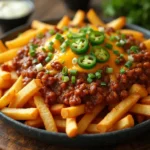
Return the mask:
[[[109,52],[102,46],[93,46],[92,54],[96,57],[97,62],[103,63],[110,58]]]

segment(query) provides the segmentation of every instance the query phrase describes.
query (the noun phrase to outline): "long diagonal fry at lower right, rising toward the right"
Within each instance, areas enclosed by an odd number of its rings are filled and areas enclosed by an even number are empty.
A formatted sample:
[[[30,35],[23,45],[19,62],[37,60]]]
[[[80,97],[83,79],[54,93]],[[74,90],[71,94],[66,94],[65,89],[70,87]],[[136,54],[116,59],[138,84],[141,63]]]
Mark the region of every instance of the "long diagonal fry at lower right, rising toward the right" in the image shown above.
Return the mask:
[[[100,121],[97,125],[97,129],[100,132],[106,132],[113,125],[121,119],[131,108],[133,105],[137,103],[140,99],[139,94],[131,94],[124,100],[122,100],[115,108],[113,108],[102,121]]]

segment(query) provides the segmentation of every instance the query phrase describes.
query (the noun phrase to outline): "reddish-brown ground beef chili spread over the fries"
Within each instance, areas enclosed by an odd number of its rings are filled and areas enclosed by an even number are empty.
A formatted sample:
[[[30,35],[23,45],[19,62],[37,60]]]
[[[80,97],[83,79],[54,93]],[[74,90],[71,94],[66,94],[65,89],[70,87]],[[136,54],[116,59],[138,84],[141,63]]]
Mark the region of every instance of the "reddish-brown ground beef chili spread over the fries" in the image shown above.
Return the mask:
[[[63,31],[55,29],[55,32],[62,33]],[[109,35],[115,32],[113,28],[106,28],[106,33]],[[51,35],[46,33],[42,39],[34,38],[30,43],[42,46],[46,39]],[[97,104],[105,101],[108,104],[119,102],[128,96],[128,91],[134,83],[142,84],[150,93],[150,52],[145,51],[146,47],[143,43],[137,41],[132,35],[125,36],[126,43],[123,45],[127,52],[132,45],[139,47],[139,53],[131,53],[134,58],[135,65],[132,65],[124,73],[116,74],[116,81],[111,81],[109,74],[106,73],[106,68],[101,68],[101,78],[94,79],[91,83],[87,82],[87,73],[78,72],[76,83],[71,81],[63,82],[61,70],[63,64],[54,61],[51,67],[57,71],[55,74],[47,72],[47,70],[36,70],[36,65],[41,63],[43,66],[47,63],[45,58],[47,54],[43,51],[36,52],[34,57],[29,55],[29,45],[24,46],[19,50],[17,56],[13,59],[13,65],[4,64],[3,70],[16,70],[17,74],[22,74],[24,84],[26,85],[33,78],[41,79],[43,84],[40,90],[45,102],[49,105],[55,103],[63,103],[67,106],[76,106],[86,104],[86,111],[90,112]],[[119,59],[118,65],[124,64],[125,59],[117,56]],[[35,61],[36,60],[36,61]],[[69,76],[70,77],[70,76]],[[105,83],[105,84],[102,84]]]

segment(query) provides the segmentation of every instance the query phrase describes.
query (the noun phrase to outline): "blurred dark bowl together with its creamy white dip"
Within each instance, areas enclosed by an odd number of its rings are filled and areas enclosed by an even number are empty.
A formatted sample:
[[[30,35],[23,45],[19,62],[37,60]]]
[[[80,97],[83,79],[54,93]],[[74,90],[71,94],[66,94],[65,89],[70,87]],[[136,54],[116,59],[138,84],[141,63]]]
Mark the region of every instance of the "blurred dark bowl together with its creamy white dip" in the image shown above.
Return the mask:
[[[34,2],[32,0],[1,0],[0,26],[2,32],[25,24],[33,12]]]

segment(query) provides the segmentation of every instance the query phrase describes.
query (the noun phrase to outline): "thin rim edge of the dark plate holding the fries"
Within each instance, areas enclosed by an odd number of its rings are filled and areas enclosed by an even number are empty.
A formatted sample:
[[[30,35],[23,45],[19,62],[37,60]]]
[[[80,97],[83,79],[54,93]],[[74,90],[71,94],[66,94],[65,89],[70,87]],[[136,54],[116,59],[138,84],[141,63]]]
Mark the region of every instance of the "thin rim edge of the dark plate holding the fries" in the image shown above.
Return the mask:
[[[49,19],[49,20],[45,20],[44,22],[46,22],[46,23],[58,22],[59,19]],[[27,28],[30,27],[30,25],[31,25],[31,23],[27,23],[25,25],[22,25],[20,27],[15,28],[11,31],[8,31],[2,37],[0,37],[0,40],[5,41],[6,37],[12,35],[13,33],[17,32],[17,31],[20,31],[22,29],[26,30]],[[134,24],[127,24],[126,27],[131,28],[131,29],[135,29],[137,31],[141,31],[144,33],[144,35],[146,37],[150,38],[150,31],[147,29],[144,29],[144,28],[139,27],[139,26],[134,25]],[[1,112],[0,112],[0,119],[4,120],[5,122],[12,123],[13,126],[16,126],[15,128],[19,127],[19,128],[21,128],[21,130],[26,130],[27,132],[34,132],[33,134],[36,134],[36,135],[42,134],[43,136],[48,135],[48,136],[53,136],[53,137],[60,136],[62,138],[67,138],[70,140],[70,138],[66,135],[66,133],[60,133],[60,132],[55,133],[55,132],[49,132],[49,131],[46,131],[43,129],[30,127],[30,126],[27,126],[27,125],[25,125],[19,121],[16,121],[16,120],[6,116],[5,114],[3,114]],[[110,137],[110,136],[112,136],[112,137],[118,136],[119,137],[121,135],[134,133],[135,131],[140,131],[141,129],[143,131],[150,129],[150,128],[146,129],[146,127],[150,127],[150,120],[146,120],[142,123],[135,125],[132,128],[128,128],[128,129],[123,129],[123,130],[118,130],[118,131],[113,131],[113,132],[100,133],[100,134],[82,134],[82,135],[77,135],[74,139],[80,140],[80,139],[84,138],[84,139],[90,140],[93,137],[96,137],[96,138]]]

